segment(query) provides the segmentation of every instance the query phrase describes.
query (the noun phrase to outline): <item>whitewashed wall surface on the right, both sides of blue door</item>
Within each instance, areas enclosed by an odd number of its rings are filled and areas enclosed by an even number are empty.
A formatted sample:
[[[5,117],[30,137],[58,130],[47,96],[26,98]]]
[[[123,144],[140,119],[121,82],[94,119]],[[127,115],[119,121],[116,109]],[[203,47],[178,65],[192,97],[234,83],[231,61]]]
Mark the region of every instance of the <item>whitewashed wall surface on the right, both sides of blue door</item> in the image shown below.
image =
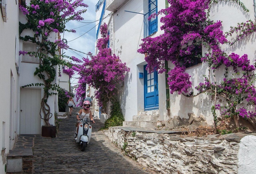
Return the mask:
[[[122,2],[120,5],[118,2]],[[140,48],[141,39],[143,38],[143,8],[148,8],[143,5],[143,0],[106,0],[107,10],[112,10],[111,18],[105,19],[103,22],[108,24],[110,30],[110,47],[112,52],[119,56],[122,62],[127,63],[130,72],[126,75],[124,86],[119,89],[119,99],[125,121],[132,121],[133,115],[138,115],[140,111],[144,111],[144,90],[143,79],[138,78],[138,73],[143,72],[143,65],[147,64],[144,60],[144,55],[137,53]],[[218,4],[212,5],[210,8],[210,19],[223,21],[223,31],[229,30],[230,26],[236,26],[238,22],[246,22],[254,20],[253,0],[242,0],[245,7],[249,9],[249,13],[245,13],[241,7],[233,2],[221,1]],[[111,3],[115,6],[108,7]],[[103,6],[103,4],[102,4]],[[165,8],[165,1],[158,0],[158,11]],[[113,10],[114,9],[114,10]],[[106,10],[106,11],[107,11]],[[127,12],[132,11],[135,13]],[[101,9],[96,12],[99,19]],[[137,14],[142,13],[142,14]],[[105,13],[105,15],[108,12]],[[158,16],[158,32],[150,37],[156,37],[163,34],[160,27],[161,16]],[[102,23],[103,23],[102,22]],[[111,32],[112,31],[112,32]],[[255,33],[250,34],[244,41],[237,42],[234,46],[229,47],[223,45],[223,49],[227,53],[235,52],[243,55],[248,54],[251,63],[255,62]],[[203,50],[203,54],[206,50]],[[97,54],[97,51],[96,51]],[[173,65],[169,62],[169,67]],[[198,64],[186,69],[186,72],[191,75],[192,87],[194,94],[197,90],[194,89],[200,82],[204,81],[203,74],[208,74],[207,65],[205,63]],[[216,71],[217,79],[223,79],[223,72]],[[193,113],[197,116],[203,115],[208,124],[213,124],[211,106],[212,99],[208,95],[198,95],[194,98],[187,98],[183,95],[178,95],[177,92],[170,95],[170,116],[166,110],[166,91],[165,91],[165,74],[158,74],[158,89],[159,89],[159,118],[158,120],[167,120],[170,117],[179,116],[181,118],[189,118],[188,113]]]

